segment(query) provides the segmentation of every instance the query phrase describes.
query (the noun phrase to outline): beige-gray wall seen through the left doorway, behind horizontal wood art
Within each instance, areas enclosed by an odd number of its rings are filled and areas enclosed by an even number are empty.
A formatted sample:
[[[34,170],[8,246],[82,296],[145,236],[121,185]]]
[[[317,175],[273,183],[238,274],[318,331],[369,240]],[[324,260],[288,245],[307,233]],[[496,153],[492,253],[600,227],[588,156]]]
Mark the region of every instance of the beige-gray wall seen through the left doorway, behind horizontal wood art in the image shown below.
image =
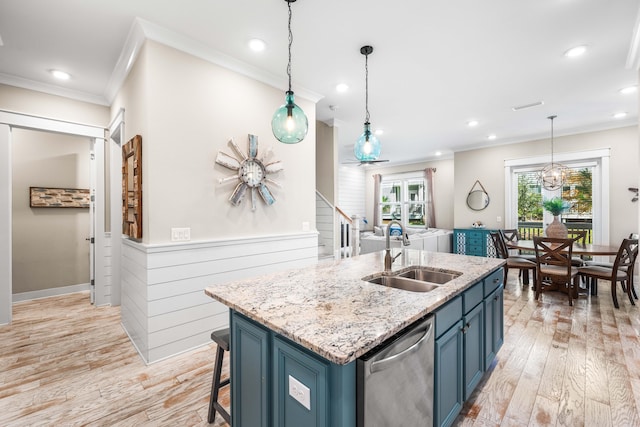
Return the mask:
[[[14,129],[13,293],[89,283],[89,209],[31,208],[29,187],[89,188],[89,140]]]

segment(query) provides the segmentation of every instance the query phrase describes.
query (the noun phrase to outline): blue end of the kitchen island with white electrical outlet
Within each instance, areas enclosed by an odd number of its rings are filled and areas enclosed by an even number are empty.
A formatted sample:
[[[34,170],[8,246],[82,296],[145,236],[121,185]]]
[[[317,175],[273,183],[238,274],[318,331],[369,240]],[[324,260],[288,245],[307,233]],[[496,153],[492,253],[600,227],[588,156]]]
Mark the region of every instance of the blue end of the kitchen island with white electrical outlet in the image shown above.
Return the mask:
[[[355,362],[332,363],[234,310],[231,325],[234,427],[356,425]]]

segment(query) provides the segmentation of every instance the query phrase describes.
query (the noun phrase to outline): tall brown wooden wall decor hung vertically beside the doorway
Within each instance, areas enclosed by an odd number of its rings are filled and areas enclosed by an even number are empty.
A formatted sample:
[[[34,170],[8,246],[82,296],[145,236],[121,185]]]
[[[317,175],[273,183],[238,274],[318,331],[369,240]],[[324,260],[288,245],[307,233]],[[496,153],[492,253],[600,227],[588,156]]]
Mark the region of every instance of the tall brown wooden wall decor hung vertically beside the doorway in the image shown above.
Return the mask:
[[[122,146],[122,234],[142,239],[142,137]]]

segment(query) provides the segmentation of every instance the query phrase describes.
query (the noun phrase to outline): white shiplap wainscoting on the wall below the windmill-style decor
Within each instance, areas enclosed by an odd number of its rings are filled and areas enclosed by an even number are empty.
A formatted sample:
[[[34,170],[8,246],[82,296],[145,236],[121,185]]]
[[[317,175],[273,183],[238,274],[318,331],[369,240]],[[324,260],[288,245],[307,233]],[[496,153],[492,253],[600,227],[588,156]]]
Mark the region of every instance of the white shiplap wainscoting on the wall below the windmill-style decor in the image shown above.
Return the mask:
[[[206,287],[318,261],[315,231],[186,244],[122,242],[122,325],[146,363],[208,344],[213,330],[228,326],[227,307],[206,296]]]

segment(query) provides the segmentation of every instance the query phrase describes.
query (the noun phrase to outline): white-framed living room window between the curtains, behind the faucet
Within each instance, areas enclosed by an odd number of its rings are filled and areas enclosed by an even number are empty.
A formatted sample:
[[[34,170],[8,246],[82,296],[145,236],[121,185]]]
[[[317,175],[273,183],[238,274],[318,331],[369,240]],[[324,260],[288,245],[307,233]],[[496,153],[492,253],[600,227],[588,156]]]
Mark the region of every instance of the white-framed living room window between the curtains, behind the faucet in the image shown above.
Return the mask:
[[[378,203],[383,224],[397,220],[403,227],[424,228],[427,225],[425,182],[422,173],[383,178]]]

